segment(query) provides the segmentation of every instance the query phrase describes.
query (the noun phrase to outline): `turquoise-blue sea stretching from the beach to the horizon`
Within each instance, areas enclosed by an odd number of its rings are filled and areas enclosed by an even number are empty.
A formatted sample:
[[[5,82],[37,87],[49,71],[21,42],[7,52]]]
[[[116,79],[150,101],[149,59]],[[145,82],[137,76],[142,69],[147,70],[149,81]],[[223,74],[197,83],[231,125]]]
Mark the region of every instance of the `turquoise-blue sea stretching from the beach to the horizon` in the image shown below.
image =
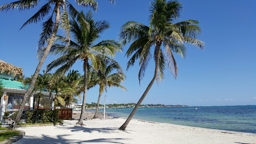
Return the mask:
[[[197,109],[194,109],[194,107],[138,108],[133,119],[256,133],[256,105],[196,108]],[[106,113],[113,117],[128,117],[132,109],[133,108],[112,108],[106,109]],[[99,111],[103,112],[103,109]]]

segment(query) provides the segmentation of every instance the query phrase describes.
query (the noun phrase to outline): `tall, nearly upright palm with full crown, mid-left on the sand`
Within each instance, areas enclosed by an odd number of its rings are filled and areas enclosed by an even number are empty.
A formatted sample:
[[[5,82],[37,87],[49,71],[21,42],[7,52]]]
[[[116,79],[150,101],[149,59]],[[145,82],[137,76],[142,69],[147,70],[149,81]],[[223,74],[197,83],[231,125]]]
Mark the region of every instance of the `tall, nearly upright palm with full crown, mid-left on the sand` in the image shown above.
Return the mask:
[[[84,98],[81,110],[81,116],[79,121],[76,124],[83,125],[83,117],[85,110],[85,100],[87,92],[87,69],[88,63],[92,64],[92,67],[97,69],[99,68],[101,58],[108,58],[108,56],[113,57],[116,55],[116,51],[121,52],[121,44],[114,40],[103,40],[98,44],[95,44],[95,41],[100,38],[100,34],[104,30],[110,27],[108,21],[94,21],[92,19],[92,12],[89,11],[86,15],[84,12],[80,12],[80,15],[83,16],[84,20],[89,24],[90,29],[86,29],[84,24],[78,19],[70,20],[69,24],[71,26],[70,31],[73,33],[75,41],[71,41],[63,36],[56,36],[56,43],[52,45],[50,53],[60,54],[58,59],[53,60],[50,64],[47,65],[47,71],[52,70],[58,66],[61,66],[56,70],[56,74],[63,75],[68,69],[77,60],[83,61],[83,70],[84,70]],[[67,45],[69,43],[69,45]]]

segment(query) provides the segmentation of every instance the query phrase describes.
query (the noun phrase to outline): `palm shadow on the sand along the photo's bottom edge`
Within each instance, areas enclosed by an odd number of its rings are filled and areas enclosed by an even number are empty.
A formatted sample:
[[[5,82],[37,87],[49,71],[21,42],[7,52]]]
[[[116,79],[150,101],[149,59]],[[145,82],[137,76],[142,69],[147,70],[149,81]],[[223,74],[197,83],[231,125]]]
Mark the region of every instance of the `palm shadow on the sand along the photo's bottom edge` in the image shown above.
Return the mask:
[[[104,143],[121,143],[120,140],[130,140],[130,139],[123,139],[123,138],[106,138],[106,139],[92,139],[92,140],[76,140],[76,139],[70,139],[70,135],[63,134],[63,135],[57,135],[57,137],[51,137],[48,135],[42,135],[42,137],[36,137],[36,136],[25,136],[21,140],[17,141],[17,143],[22,142],[36,142],[37,144],[43,144],[43,143],[61,143],[61,144],[70,144],[70,143],[77,143],[77,144],[83,144],[83,143],[89,143],[89,142],[104,142]],[[121,143],[124,144],[124,143]]]

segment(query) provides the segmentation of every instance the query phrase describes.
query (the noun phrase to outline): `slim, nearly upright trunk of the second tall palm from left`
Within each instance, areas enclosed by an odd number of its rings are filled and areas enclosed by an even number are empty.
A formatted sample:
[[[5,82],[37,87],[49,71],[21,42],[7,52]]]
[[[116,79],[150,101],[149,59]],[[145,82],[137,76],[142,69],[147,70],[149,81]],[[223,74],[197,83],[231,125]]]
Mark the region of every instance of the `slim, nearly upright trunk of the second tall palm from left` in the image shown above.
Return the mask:
[[[86,100],[86,92],[87,92],[87,63],[88,63],[88,58],[84,59],[84,97],[83,97],[81,115],[78,122],[76,123],[80,125],[84,125],[83,120],[84,120],[84,114],[85,114],[85,100]]]

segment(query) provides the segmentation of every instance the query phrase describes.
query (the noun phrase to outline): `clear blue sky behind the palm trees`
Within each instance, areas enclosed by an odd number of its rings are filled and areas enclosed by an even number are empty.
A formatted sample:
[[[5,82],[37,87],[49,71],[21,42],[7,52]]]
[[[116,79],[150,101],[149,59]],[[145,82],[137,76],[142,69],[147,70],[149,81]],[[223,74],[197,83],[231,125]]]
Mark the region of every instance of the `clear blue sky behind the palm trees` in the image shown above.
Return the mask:
[[[0,5],[13,0],[0,1]],[[70,0],[73,1],[73,0]],[[98,0],[95,20],[108,20],[111,24],[100,40],[116,39],[120,27],[127,21],[137,21],[148,25],[149,0]],[[44,3],[44,1],[41,1]],[[199,40],[204,41],[204,51],[188,45],[188,56],[182,59],[175,54],[179,73],[174,80],[170,71],[166,71],[165,80],[156,82],[148,92],[142,104],[180,104],[191,106],[255,105],[256,104],[256,1],[254,0],[215,0],[186,1],[183,4],[182,20],[199,20],[203,30]],[[19,12],[11,10],[0,12],[0,59],[23,68],[25,76],[34,74],[36,45],[41,33],[40,23],[20,27],[41,7]],[[88,11],[78,7],[79,10]],[[59,35],[63,32],[58,31]],[[116,55],[123,69],[128,59],[123,53]],[[48,56],[42,70],[57,56]],[[139,64],[125,71],[127,79],[122,84],[128,89],[124,92],[117,88],[108,88],[106,103],[137,103],[154,75],[153,59],[146,75],[139,85]],[[82,71],[79,61],[73,69]],[[53,72],[53,71],[52,71]],[[42,71],[41,71],[42,73]],[[104,103],[104,97],[100,103]],[[97,102],[98,87],[87,92],[86,102]]]

